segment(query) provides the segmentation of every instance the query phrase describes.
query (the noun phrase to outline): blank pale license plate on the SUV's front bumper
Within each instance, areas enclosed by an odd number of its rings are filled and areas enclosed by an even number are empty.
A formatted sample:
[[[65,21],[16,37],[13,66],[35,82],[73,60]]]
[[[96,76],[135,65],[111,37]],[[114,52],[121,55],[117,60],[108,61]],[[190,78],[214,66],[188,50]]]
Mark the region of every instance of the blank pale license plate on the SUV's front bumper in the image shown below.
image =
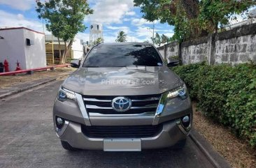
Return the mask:
[[[141,151],[141,139],[104,139],[104,151]]]

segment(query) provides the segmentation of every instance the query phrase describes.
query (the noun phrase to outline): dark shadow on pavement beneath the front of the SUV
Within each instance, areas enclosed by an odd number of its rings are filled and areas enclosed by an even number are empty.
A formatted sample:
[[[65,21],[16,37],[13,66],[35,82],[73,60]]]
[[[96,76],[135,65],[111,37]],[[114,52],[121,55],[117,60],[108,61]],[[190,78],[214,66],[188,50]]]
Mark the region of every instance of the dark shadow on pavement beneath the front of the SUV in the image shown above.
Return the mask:
[[[86,167],[212,167],[191,139],[183,149],[162,148],[141,152],[65,151],[62,155]],[[66,160],[66,162],[69,162]]]

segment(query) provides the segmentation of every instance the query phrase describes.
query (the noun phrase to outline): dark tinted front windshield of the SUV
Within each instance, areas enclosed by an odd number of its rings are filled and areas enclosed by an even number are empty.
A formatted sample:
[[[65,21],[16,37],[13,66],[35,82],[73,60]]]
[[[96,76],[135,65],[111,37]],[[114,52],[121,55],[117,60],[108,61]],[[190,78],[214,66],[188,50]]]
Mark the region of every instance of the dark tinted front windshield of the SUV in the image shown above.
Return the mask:
[[[99,45],[88,54],[83,67],[162,66],[151,45]]]

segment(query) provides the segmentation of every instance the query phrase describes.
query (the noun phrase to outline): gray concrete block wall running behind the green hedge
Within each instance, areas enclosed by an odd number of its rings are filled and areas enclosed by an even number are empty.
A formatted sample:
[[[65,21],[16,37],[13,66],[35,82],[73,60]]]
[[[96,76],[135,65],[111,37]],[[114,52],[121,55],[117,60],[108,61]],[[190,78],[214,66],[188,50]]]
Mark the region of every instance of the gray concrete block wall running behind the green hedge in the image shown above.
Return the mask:
[[[159,47],[165,59],[179,56],[183,64],[208,61],[210,64],[245,63],[256,61],[256,24],[230,31],[214,33],[183,43],[169,43]]]

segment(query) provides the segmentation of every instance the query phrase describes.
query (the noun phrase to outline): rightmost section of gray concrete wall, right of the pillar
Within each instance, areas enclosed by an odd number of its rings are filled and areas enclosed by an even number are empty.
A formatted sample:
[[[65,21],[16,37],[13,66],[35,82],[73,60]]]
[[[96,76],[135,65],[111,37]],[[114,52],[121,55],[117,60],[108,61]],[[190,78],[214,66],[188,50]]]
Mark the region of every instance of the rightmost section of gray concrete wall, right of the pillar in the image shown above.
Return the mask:
[[[215,36],[215,63],[256,61],[256,24]]]

